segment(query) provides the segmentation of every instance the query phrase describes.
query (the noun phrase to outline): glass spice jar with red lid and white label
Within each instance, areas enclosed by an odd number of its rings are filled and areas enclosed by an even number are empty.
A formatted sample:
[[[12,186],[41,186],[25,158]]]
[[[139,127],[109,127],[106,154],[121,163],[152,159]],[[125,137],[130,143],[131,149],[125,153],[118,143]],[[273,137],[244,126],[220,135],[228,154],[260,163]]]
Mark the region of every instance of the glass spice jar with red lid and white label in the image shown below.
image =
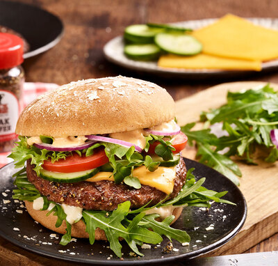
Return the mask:
[[[24,84],[23,41],[0,33],[0,152],[8,152],[17,140],[15,125],[22,109]]]

